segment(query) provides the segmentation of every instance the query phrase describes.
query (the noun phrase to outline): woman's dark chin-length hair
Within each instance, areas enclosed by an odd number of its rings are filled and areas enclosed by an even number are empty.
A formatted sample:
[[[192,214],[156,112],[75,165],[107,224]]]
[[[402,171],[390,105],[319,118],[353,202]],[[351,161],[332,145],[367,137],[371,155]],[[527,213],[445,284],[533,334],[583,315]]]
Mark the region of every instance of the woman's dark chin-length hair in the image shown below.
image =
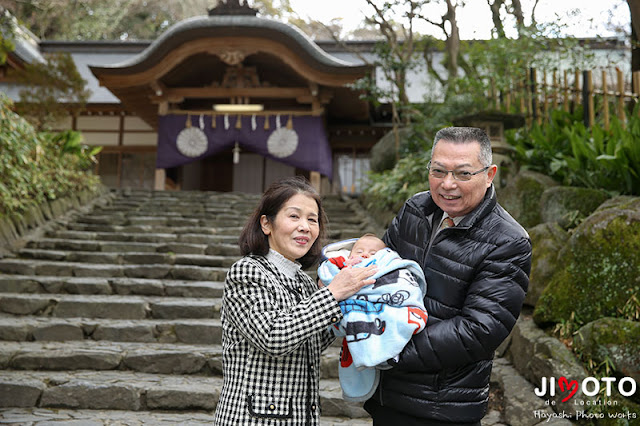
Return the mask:
[[[322,245],[327,232],[327,218],[322,209],[320,195],[309,182],[301,176],[280,179],[272,183],[265,193],[262,194],[258,207],[256,207],[253,214],[249,217],[249,220],[240,233],[240,252],[243,256],[247,254],[265,256],[269,252],[269,238],[262,232],[260,218],[262,215],[265,215],[269,223],[273,223],[280,209],[296,194],[308,195],[316,201],[318,204],[319,225],[318,238],[307,254],[297,259],[297,261],[300,262],[303,269],[306,269],[320,258]]]

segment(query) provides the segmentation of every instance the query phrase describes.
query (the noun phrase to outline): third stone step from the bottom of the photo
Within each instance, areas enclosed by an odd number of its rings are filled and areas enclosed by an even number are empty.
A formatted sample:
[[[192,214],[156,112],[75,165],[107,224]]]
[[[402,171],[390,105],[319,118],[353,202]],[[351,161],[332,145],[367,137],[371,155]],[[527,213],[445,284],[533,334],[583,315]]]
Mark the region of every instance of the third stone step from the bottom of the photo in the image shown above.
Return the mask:
[[[338,378],[340,349],[321,358],[321,378]],[[153,374],[222,375],[221,345],[68,341],[3,342],[3,370],[126,370]]]

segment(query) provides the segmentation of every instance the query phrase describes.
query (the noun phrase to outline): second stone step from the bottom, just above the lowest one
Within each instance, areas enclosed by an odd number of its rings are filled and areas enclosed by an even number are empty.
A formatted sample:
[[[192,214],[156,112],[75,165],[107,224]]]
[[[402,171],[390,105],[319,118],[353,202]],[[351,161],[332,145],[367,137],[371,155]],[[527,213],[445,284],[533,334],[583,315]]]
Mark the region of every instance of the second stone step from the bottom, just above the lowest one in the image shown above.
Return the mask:
[[[222,379],[129,371],[4,371],[0,395],[5,407],[93,410],[214,410]],[[320,380],[320,404],[327,416],[367,417],[360,404],[342,399],[337,380]]]

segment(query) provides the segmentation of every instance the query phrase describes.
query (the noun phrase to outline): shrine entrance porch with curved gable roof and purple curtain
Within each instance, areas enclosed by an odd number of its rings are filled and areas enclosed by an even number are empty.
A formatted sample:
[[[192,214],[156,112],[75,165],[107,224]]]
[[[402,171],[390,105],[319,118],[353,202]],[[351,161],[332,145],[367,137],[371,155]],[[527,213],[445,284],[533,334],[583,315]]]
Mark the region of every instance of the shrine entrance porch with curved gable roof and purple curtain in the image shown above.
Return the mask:
[[[91,67],[157,130],[156,189],[262,192],[296,174],[330,188],[331,128],[369,125],[370,105],[350,84],[370,65],[337,59],[297,28],[255,15],[222,1],[126,63]]]

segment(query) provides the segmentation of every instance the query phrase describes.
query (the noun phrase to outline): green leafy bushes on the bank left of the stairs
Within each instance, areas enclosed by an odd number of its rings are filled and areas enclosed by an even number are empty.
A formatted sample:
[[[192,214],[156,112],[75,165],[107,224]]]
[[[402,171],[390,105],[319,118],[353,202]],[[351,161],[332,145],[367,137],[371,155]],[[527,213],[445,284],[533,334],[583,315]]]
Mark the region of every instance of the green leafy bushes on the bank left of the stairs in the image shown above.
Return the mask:
[[[31,203],[95,189],[100,181],[83,170],[94,150],[81,145],[77,132],[37,133],[0,97],[0,216],[22,213]]]

